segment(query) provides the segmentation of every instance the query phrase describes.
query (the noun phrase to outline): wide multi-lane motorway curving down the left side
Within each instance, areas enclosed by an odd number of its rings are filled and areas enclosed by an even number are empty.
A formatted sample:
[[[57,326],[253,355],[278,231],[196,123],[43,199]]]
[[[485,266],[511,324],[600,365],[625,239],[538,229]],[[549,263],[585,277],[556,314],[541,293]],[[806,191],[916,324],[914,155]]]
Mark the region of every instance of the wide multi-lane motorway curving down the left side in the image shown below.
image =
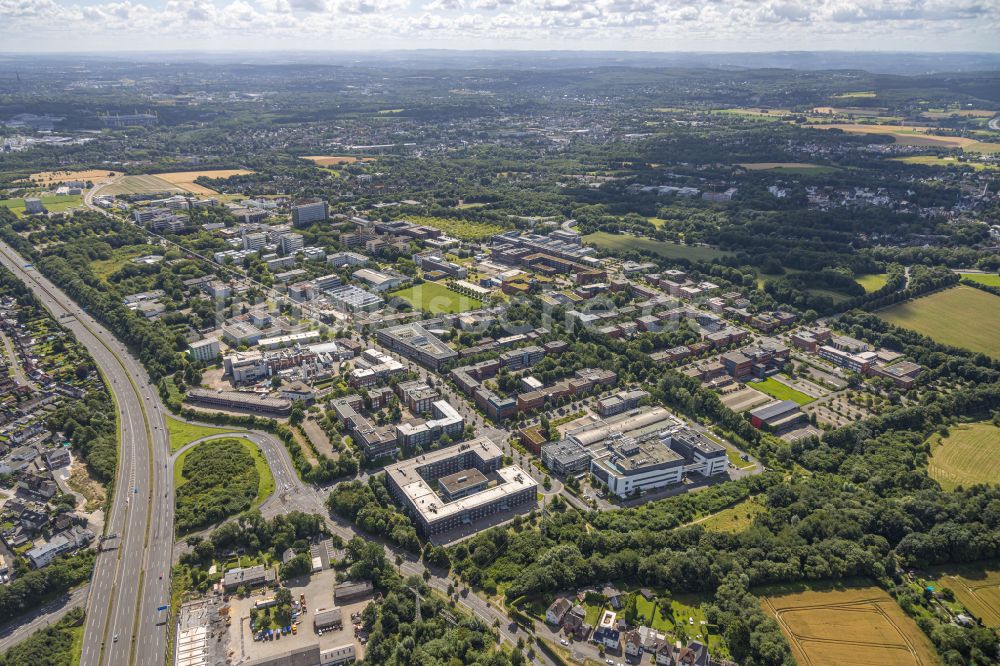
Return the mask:
[[[94,566],[80,663],[162,663],[167,627],[156,609],[170,598],[174,518],[166,410],[145,370],[107,329],[5,243],[0,263],[87,348],[118,412],[118,470],[105,526],[105,534],[118,536],[105,543]]]

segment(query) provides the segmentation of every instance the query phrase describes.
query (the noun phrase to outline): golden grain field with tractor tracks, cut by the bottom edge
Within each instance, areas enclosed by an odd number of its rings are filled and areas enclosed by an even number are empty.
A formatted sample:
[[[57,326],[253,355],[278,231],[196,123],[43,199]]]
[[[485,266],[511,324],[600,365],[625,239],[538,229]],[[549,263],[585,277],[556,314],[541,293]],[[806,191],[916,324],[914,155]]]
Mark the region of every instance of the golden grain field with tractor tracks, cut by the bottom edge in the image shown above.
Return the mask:
[[[761,604],[803,666],[940,663],[916,622],[878,587],[773,588]]]

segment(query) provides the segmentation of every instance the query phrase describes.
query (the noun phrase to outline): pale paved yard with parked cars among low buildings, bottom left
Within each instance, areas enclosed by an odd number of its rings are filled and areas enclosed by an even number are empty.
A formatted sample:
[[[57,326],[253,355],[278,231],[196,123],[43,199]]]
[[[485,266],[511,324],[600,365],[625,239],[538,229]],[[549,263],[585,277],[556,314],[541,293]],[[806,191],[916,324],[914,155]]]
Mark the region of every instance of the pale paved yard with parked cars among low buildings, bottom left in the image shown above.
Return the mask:
[[[229,631],[229,654],[233,655],[233,663],[241,664],[261,657],[273,657],[274,655],[294,650],[296,648],[307,647],[319,643],[320,650],[354,643],[357,658],[364,657],[364,645],[361,638],[354,635],[351,616],[360,613],[365,606],[371,603],[371,598],[363,598],[347,605],[341,606],[344,626],[338,630],[323,631],[322,635],[313,631],[313,617],[316,611],[321,608],[333,608],[333,586],[336,584],[336,572],[327,569],[312,576],[303,576],[284,581],[292,593],[292,599],[299,600],[300,595],[306,597],[306,610],[298,618],[299,626],[297,634],[286,634],[273,640],[255,641],[250,631],[250,609],[255,601],[274,594],[274,590],[268,590],[266,594],[255,594],[246,599],[230,598],[231,613],[233,618]]]

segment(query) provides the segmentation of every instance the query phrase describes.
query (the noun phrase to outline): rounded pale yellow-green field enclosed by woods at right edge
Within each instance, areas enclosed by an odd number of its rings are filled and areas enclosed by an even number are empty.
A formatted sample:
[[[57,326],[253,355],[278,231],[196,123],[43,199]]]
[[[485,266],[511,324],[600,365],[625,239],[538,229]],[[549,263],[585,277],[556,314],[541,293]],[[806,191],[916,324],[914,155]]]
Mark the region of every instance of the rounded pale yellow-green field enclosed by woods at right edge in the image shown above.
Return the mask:
[[[931,435],[927,473],[945,490],[1000,482],[1000,428],[992,423],[952,426],[947,437]]]

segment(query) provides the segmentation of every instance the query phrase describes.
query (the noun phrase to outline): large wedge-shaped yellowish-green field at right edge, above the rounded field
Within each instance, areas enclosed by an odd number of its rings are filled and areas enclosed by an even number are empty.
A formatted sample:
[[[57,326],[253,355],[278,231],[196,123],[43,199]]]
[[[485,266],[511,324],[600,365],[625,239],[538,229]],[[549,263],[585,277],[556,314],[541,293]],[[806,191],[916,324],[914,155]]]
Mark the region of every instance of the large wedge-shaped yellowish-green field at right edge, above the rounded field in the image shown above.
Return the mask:
[[[876,314],[938,342],[1000,358],[1000,296],[959,285]]]

